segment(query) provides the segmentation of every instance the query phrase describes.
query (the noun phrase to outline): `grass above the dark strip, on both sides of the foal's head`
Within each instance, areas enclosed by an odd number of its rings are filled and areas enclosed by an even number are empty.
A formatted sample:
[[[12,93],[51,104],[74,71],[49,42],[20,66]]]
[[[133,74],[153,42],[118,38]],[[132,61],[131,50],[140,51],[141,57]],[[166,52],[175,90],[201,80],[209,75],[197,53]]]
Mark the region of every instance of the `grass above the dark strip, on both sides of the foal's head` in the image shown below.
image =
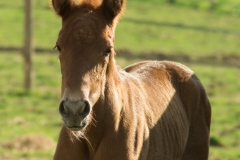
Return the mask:
[[[238,5],[238,2],[234,1],[234,4]],[[116,49],[198,57],[238,54],[239,17],[187,6],[187,3],[184,6],[168,5],[156,0],[128,1],[126,13],[116,30]],[[7,1],[0,2],[0,7],[1,47],[21,47],[23,4]],[[35,1],[34,18],[36,48],[52,49],[60,30],[60,18],[49,9],[46,1],[40,0]]]

